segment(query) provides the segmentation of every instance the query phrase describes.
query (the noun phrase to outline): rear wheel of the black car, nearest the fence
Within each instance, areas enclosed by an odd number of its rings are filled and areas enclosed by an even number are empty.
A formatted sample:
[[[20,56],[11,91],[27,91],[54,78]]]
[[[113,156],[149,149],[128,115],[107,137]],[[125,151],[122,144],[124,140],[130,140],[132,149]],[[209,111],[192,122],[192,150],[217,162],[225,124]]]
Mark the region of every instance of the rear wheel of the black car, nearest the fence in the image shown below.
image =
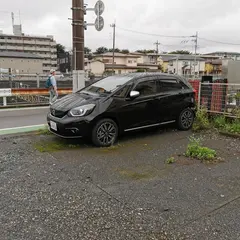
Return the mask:
[[[184,109],[177,119],[177,127],[179,130],[182,131],[188,131],[192,128],[193,122],[194,122],[194,112],[190,108]]]

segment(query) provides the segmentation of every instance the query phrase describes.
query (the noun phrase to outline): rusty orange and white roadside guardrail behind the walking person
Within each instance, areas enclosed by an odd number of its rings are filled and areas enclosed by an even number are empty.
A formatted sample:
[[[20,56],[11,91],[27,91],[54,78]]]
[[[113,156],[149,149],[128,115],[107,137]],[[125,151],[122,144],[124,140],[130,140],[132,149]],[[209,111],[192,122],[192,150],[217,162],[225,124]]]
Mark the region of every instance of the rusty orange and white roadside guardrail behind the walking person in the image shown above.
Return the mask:
[[[72,93],[72,88],[59,88],[58,94],[61,98]],[[46,105],[49,103],[49,91],[44,88],[32,89],[0,89],[0,106],[22,106],[22,105]]]

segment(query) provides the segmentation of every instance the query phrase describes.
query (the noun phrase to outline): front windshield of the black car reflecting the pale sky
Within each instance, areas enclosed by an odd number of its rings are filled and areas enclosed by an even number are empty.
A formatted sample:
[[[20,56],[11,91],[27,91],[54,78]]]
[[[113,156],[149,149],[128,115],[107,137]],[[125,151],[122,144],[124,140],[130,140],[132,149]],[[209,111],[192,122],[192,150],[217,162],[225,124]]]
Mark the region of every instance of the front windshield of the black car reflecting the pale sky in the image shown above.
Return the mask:
[[[92,85],[86,87],[81,92],[91,92],[91,93],[112,93],[119,89],[122,85],[130,81],[132,77],[129,76],[110,76],[106,77]]]

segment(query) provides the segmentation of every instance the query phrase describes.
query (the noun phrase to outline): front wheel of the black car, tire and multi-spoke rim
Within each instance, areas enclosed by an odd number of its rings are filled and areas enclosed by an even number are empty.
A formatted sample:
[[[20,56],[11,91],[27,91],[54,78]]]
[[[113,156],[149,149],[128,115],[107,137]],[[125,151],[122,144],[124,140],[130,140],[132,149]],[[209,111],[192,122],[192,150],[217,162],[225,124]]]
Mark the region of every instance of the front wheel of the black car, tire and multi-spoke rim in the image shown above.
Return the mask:
[[[118,138],[118,125],[109,118],[99,120],[92,130],[92,142],[97,147],[110,147]]]

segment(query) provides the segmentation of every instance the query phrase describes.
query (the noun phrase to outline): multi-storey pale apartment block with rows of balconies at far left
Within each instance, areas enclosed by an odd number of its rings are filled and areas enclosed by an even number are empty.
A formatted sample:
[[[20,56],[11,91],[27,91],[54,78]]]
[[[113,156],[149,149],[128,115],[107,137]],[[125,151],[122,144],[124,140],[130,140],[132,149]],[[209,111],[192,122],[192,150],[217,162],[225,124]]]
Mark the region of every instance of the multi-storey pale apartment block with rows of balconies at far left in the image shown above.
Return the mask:
[[[57,68],[56,41],[53,36],[39,37],[7,35],[0,33],[0,51],[24,52],[40,56],[43,60],[43,73]]]

